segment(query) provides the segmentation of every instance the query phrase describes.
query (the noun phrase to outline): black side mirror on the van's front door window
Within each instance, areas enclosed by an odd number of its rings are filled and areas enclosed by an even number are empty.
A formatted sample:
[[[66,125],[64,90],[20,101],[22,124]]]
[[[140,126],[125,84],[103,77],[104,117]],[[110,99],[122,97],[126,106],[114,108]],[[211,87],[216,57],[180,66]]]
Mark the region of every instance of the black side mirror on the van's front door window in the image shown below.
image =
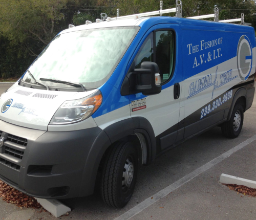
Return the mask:
[[[121,95],[136,93],[155,95],[162,91],[158,65],[155,62],[144,61],[140,67],[126,75],[121,87]]]

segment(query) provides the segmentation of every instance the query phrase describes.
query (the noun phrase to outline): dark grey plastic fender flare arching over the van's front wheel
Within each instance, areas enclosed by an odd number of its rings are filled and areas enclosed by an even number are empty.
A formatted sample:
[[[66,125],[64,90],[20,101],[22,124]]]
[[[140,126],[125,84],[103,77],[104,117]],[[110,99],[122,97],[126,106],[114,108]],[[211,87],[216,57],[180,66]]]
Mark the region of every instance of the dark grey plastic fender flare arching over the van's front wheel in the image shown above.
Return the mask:
[[[156,157],[156,138],[150,122],[143,117],[134,117],[116,122],[101,130],[92,144],[84,164],[79,196],[93,194],[100,161],[109,146],[129,135],[142,134],[147,143],[147,164]]]

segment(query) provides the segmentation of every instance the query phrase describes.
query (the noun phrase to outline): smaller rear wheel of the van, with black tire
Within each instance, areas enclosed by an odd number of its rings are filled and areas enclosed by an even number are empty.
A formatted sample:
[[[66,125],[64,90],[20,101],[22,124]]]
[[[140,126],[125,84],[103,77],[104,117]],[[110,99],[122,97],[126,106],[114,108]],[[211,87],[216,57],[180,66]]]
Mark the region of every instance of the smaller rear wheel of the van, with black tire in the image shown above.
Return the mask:
[[[233,112],[229,121],[221,126],[222,133],[227,138],[237,138],[242,130],[244,122],[244,109],[241,104],[234,105]]]

